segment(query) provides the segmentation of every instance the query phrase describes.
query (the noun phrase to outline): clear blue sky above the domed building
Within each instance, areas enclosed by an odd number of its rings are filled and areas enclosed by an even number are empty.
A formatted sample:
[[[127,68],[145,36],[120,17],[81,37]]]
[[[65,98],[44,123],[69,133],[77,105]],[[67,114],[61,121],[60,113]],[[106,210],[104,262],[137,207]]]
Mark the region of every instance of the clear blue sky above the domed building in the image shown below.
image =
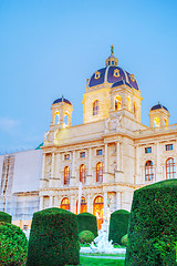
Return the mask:
[[[81,124],[111,44],[140,86],[142,122],[159,101],[177,123],[177,1],[0,0],[0,153],[37,147],[62,94]]]

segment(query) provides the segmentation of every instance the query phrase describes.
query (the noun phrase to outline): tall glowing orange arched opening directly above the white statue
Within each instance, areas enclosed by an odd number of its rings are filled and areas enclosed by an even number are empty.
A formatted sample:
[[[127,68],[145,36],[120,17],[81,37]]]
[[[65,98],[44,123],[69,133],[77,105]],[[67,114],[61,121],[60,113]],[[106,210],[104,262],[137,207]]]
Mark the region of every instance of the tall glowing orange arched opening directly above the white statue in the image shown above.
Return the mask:
[[[103,209],[104,209],[104,200],[102,196],[97,196],[93,203],[93,215],[97,218],[97,229],[101,229],[103,224]]]

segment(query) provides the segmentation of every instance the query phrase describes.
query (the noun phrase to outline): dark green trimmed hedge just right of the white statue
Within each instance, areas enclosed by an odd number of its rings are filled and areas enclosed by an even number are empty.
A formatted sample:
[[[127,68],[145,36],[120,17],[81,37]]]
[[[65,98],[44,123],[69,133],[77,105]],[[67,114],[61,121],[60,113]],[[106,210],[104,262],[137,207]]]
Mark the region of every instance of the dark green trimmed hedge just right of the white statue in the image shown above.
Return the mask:
[[[122,244],[121,239],[127,234],[129,212],[118,209],[111,214],[108,241]]]

